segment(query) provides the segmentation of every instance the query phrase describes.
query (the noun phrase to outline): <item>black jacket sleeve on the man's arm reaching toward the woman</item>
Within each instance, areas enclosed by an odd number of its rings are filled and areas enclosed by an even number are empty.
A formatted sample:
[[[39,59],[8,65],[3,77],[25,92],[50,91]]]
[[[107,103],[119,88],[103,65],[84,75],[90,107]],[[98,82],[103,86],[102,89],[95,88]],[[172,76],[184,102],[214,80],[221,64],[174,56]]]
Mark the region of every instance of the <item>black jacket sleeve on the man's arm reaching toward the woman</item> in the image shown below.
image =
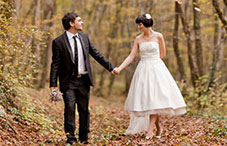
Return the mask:
[[[91,43],[88,38],[89,43],[89,54],[105,69],[111,72],[114,69],[114,66],[95,48],[95,46]]]

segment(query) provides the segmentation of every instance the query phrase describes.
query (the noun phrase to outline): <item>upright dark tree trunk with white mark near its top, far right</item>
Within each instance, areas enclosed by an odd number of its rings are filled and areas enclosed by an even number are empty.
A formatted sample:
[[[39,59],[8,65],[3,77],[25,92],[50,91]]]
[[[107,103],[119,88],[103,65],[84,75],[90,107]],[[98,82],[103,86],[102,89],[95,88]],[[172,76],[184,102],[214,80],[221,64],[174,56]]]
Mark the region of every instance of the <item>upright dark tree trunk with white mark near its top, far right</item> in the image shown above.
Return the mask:
[[[196,50],[196,61],[199,70],[199,75],[203,76],[203,50],[200,33],[200,8],[198,0],[193,0],[193,16],[194,16],[194,31],[195,31],[195,50]]]

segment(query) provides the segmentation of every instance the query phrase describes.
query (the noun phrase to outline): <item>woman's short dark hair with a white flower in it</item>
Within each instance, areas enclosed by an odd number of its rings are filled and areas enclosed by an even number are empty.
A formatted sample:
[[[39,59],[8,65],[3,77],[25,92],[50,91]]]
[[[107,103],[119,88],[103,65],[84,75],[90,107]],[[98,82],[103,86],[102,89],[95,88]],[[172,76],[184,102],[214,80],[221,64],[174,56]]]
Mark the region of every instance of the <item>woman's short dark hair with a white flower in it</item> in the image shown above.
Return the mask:
[[[136,23],[143,23],[145,27],[153,26],[153,19],[150,14],[142,14],[136,18]]]

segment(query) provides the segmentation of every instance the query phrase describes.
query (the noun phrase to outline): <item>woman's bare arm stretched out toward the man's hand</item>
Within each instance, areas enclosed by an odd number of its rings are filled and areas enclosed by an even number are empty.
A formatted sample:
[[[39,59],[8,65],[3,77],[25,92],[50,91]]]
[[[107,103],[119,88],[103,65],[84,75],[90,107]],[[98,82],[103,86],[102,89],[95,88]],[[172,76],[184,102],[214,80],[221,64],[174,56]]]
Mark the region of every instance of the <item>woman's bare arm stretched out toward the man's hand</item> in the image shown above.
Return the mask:
[[[127,67],[130,63],[132,63],[132,61],[133,61],[134,58],[136,57],[137,52],[138,52],[138,39],[135,39],[131,53],[130,53],[129,56],[123,61],[123,63],[118,67],[119,73],[120,73],[125,67]]]

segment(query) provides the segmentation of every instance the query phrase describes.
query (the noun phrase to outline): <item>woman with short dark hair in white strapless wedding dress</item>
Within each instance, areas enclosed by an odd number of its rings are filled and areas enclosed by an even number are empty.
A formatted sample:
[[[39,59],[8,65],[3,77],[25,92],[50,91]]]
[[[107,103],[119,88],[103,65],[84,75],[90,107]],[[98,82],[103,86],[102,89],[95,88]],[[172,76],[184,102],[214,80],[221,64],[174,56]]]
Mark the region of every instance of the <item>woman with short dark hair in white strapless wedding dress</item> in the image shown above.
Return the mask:
[[[124,107],[130,112],[126,134],[147,131],[146,139],[161,138],[163,128],[160,115],[184,114],[186,105],[175,80],[162,61],[166,55],[164,38],[161,33],[152,30],[151,15],[138,16],[136,24],[142,34],[136,37],[129,56],[112,73],[119,74],[140,53],[140,62]]]

